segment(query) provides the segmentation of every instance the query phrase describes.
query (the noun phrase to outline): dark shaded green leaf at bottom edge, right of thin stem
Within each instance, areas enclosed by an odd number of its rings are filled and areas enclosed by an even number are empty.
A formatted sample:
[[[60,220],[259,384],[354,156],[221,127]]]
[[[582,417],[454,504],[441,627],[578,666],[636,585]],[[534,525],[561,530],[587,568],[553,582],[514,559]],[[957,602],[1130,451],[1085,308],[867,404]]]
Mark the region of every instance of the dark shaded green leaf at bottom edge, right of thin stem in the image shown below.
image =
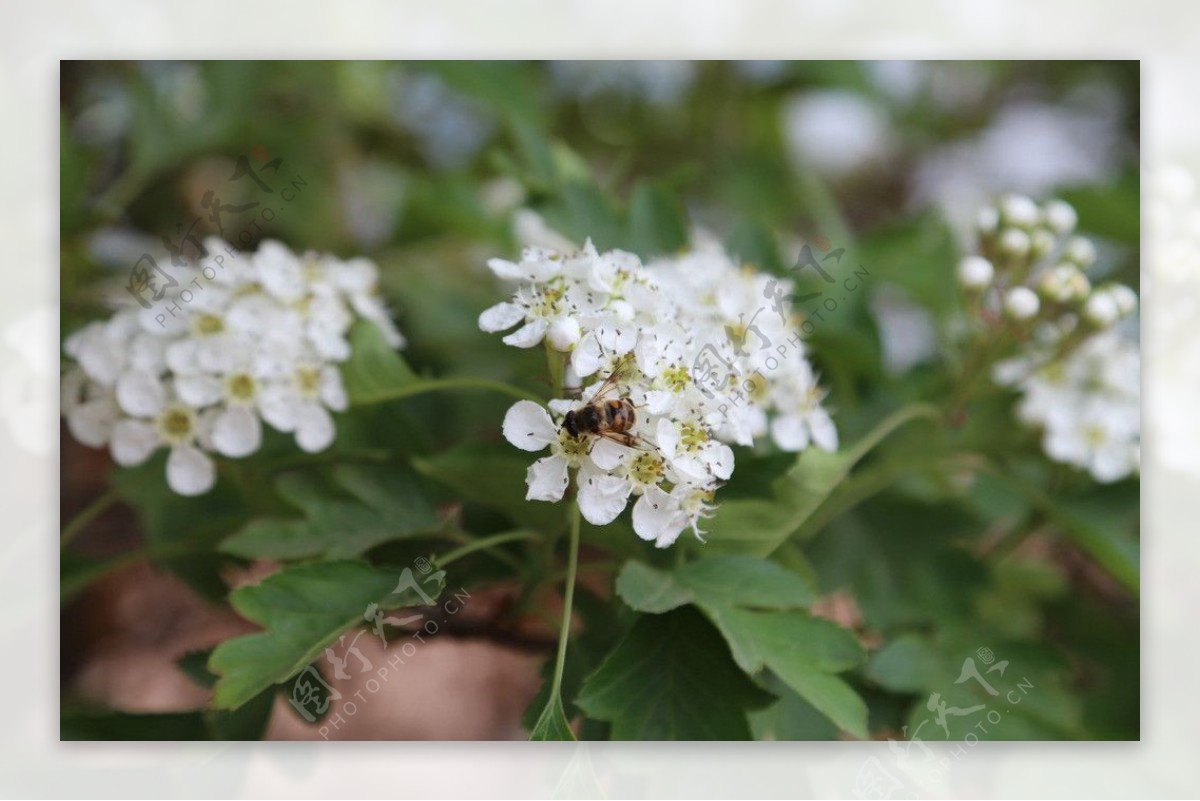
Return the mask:
[[[638,618],[576,704],[610,721],[614,740],[748,740],[748,710],[773,698],[738,669],[712,624],[684,608]]]

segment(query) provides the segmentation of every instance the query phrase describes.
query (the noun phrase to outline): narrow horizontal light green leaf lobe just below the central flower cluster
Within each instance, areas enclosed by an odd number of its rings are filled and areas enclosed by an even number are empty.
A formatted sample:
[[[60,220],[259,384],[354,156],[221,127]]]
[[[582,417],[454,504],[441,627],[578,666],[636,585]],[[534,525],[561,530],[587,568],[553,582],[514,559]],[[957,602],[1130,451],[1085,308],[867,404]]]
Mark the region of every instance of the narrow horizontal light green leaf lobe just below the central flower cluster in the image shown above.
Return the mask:
[[[794,609],[814,598],[803,578],[754,556],[708,556],[670,572],[630,561],[617,577],[617,595],[634,609],[653,614],[685,603]]]

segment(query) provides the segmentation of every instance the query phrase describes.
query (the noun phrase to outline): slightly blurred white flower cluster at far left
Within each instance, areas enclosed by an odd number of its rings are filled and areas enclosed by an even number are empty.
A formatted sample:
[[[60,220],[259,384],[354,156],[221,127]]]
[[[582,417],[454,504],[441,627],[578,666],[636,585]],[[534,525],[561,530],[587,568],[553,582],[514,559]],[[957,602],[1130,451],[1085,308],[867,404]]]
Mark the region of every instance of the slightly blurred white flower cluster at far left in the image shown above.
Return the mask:
[[[204,245],[235,253],[216,239]],[[71,434],[107,445],[124,466],[170,448],[167,483],[182,495],[212,487],[209,453],[256,452],[262,421],[308,452],[334,441],[330,411],[347,408],[336,365],[350,357],[355,319],[378,325],[392,347],[403,344],[367,259],[296,255],[264,241],[253,254],[211,259],[203,275],[64,343],[76,362],[62,377]]]

